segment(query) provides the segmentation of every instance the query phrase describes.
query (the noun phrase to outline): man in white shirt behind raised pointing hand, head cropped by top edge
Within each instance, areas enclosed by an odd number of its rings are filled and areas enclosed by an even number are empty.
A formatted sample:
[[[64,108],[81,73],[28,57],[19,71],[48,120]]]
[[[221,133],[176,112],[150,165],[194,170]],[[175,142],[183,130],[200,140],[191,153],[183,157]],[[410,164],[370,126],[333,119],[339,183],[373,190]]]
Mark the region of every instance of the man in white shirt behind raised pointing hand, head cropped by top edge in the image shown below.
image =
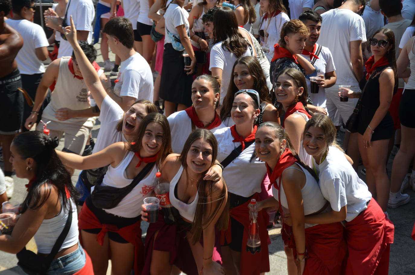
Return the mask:
[[[46,26],[55,29],[61,35],[63,35],[62,26],[69,26],[71,24],[70,17],[72,16],[78,40],[86,41],[88,44],[92,43],[92,21],[95,17],[95,8],[92,0],[69,0],[68,4],[66,4],[63,20],[51,8],[46,10],[44,15]],[[58,58],[71,55],[71,44],[66,39],[61,39]]]

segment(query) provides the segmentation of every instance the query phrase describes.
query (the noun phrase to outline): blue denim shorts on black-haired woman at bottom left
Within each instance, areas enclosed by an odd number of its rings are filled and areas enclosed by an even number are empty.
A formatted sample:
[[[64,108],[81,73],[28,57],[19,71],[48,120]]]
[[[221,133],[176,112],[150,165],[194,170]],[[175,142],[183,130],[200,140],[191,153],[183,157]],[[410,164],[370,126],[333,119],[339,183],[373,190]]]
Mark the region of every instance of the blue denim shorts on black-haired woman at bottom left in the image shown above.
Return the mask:
[[[46,275],[71,275],[83,268],[86,255],[80,243],[78,249],[52,261]]]

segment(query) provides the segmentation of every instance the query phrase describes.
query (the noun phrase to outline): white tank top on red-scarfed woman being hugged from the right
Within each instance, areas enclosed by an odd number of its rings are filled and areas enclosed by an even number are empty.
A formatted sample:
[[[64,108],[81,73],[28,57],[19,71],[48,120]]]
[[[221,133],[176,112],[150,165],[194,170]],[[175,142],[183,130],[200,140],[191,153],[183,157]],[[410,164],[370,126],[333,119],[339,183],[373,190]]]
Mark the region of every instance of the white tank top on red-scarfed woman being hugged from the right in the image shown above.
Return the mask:
[[[298,171],[302,171],[305,174],[305,185],[301,189],[301,195],[303,196],[304,216],[310,215],[322,209],[322,207],[325,206],[325,204],[327,203],[327,200],[321,194],[318,182],[310,174],[310,172],[308,172],[298,163],[295,163],[295,164],[300,166],[301,170],[298,169],[297,167],[288,167],[287,169],[296,169]],[[276,179],[276,184],[279,184],[279,180],[280,178]],[[272,183],[272,194],[274,198],[278,201],[278,190],[274,187],[273,183]],[[281,183],[280,199],[281,199],[280,201],[281,206],[284,208],[283,211],[284,212],[288,211],[288,201],[287,201],[287,197],[284,192],[282,183]],[[310,226],[312,225],[308,225],[308,227]]]

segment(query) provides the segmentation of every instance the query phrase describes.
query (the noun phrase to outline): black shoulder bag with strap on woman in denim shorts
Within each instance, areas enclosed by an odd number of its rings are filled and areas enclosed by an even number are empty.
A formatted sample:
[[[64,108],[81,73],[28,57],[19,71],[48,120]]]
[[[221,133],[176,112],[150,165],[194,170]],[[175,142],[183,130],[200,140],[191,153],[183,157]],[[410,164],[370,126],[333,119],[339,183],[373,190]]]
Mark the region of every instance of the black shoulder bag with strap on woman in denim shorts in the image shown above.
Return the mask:
[[[63,205],[62,205],[62,211],[63,211]],[[56,240],[51,250],[51,253],[49,253],[49,255],[46,258],[43,258],[35,254],[31,250],[27,250],[26,247],[24,247],[22,250],[20,250],[16,254],[17,259],[19,260],[17,262],[17,265],[19,265],[20,268],[22,268],[22,270],[29,275],[46,274],[56,254],[59,252],[59,248],[61,248],[63,241],[68,235],[69,228],[71,228],[71,223],[72,223],[72,204],[71,204],[71,201],[69,201],[68,219],[66,220],[65,227],[63,228],[61,234]]]

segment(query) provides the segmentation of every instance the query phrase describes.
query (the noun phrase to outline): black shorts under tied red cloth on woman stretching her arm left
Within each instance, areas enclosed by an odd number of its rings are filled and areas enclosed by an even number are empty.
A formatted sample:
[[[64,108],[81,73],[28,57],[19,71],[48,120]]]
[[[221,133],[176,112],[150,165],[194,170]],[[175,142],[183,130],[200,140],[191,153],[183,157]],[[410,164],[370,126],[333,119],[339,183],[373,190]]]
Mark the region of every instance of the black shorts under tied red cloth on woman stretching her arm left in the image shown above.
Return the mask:
[[[89,210],[98,218],[100,223],[112,224],[117,226],[118,228],[123,228],[125,226],[132,225],[133,223],[136,223],[137,221],[141,220],[141,215],[135,218],[124,218],[120,216],[115,216],[113,214],[109,214],[105,212],[104,209],[96,208],[92,203],[91,196],[88,196],[88,198],[85,200],[85,204],[88,206]],[[101,229],[102,228],[92,228],[82,230],[91,234],[98,234],[100,233]],[[116,232],[108,231],[108,238],[110,238],[111,241],[115,241],[117,243],[129,243],[124,238],[122,238],[120,234]]]

